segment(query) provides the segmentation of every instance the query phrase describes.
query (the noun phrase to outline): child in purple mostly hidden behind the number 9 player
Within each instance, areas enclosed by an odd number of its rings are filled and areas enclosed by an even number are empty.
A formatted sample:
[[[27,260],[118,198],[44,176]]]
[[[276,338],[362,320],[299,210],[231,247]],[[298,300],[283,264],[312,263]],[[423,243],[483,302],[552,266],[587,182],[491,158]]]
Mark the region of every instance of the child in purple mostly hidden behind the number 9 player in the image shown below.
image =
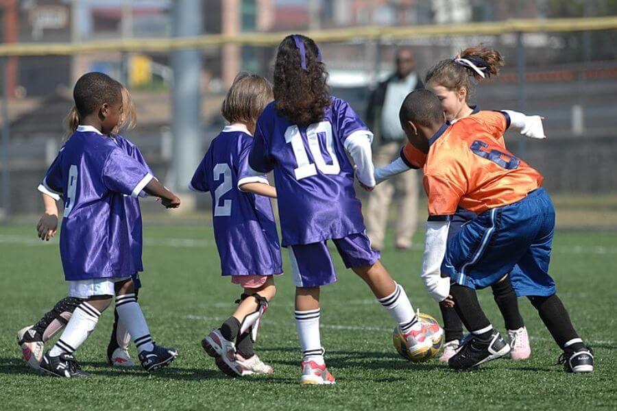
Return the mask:
[[[130,92],[128,92],[124,86],[122,87],[121,92],[123,115],[116,129],[114,129],[112,134],[110,134],[110,137],[117,143],[118,147],[125,151],[125,153],[150,170],[139,149],[133,145],[132,142],[118,134],[120,129],[132,129],[134,125],[136,125],[136,110]],[[71,136],[71,134],[77,131],[79,122],[80,119],[77,115],[77,110],[73,106],[71,112],[69,112],[69,116],[67,116],[68,136]],[[150,171],[150,173],[152,174],[152,171]],[[58,229],[58,207],[56,206],[56,201],[60,199],[60,196],[56,193],[50,192],[42,184],[38,186],[38,190],[42,194],[45,212],[43,213],[43,216],[40,217],[36,229],[41,240],[49,241],[49,239],[56,235],[56,230]],[[137,272],[132,276],[135,288],[135,297],[137,298],[138,289],[141,288],[141,281],[139,279],[138,272],[143,271],[143,264],[141,260],[141,209],[137,198],[123,196],[123,200],[125,205],[126,221],[130,227],[129,234],[131,250],[133,252],[134,264],[137,270]],[[81,299],[75,297],[64,297],[58,301],[58,303],[56,303],[56,305],[53,306],[49,312],[46,312],[36,324],[24,327],[18,332],[18,344],[21,347],[23,358],[29,366],[38,370],[40,359],[43,357],[45,342],[60,332],[64,325],[68,323],[69,319],[71,319],[73,311],[81,302]],[[121,323],[121,321],[119,321],[118,312],[117,310],[114,310],[114,325],[112,327],[110,343],[107,348],[106,362],[112,366],[134,366],[134,362],[128,353],[129,343],[130,334],[128,334],[128,329],[123,325],[123,323]]]

